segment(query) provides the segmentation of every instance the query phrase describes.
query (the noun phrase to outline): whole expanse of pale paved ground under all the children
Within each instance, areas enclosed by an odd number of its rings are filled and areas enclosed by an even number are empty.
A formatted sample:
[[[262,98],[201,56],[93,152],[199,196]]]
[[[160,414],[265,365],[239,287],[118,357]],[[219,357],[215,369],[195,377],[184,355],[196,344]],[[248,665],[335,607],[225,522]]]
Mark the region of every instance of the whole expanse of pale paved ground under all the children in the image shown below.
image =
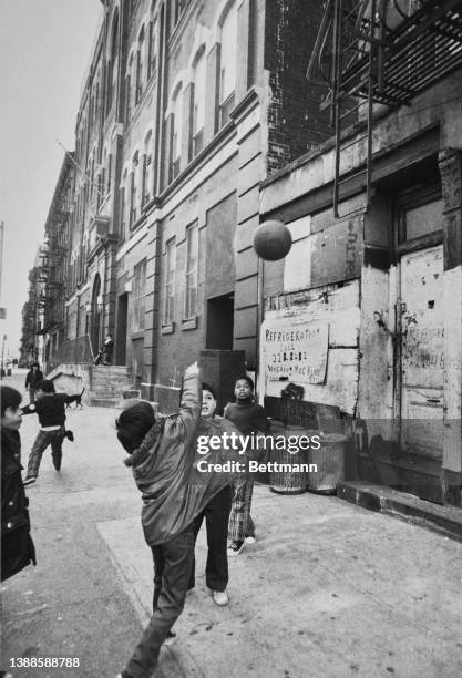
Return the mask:
[[[4,383],[14,383],[13,379]],[[140,493],[113,428],[117,411],[68,410],[75,442],[57,473],[44,453],[28,490],[37,567],[3,583],[3,657],[66,657],[18,678],[110,678],[146,623],[151,553]],[[23,465],[38,429],[24,417]],[[229,562],[226,608],[204,583],[161,655],[164,678],[456,678],[462,674],[462,545],[335,496],[254,493],[257,542]]]

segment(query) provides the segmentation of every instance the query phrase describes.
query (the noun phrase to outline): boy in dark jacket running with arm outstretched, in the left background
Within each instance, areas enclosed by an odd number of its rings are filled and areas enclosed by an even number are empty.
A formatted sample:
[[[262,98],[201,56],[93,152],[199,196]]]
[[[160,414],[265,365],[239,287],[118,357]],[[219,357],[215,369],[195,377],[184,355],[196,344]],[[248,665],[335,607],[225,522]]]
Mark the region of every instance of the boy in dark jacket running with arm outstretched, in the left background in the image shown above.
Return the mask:
[[[83,391],[82,391],[83,393]],[[31,485],[39,475],[40,462],[43,452],[51,445],[51,456],[57,471],[61,469],[62,441],[64,438],[73,440],[72,431],[66,431],[65,405],[79,400],[82,393],[68,396],[66,393],[55,393],[54,383],[49,379],[39,381],[35,388],[35,402],[22,409],[24,414],[39,415],[40,431],[32,445],[29,455],[28,472],[24,485]]]

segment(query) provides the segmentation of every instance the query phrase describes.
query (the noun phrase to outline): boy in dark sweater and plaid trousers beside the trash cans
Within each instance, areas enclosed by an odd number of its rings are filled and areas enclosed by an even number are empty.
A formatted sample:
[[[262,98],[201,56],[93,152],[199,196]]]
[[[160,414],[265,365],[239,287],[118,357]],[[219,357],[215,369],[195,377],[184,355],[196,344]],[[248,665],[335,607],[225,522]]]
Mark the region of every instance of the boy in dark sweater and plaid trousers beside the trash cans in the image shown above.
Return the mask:
[[[244,376],[237,379],[234,394],[236,402],[225,408],[225,418],[229,419],[244,435],[266,433],[269,420],[261,405],[254,402],[254,381]],[[250,516],[254,479],[248,474],[239,477],[234,484],[233,504],[229,515],[228,556],[237,556],[245,543],[255,543],[255,525]]]

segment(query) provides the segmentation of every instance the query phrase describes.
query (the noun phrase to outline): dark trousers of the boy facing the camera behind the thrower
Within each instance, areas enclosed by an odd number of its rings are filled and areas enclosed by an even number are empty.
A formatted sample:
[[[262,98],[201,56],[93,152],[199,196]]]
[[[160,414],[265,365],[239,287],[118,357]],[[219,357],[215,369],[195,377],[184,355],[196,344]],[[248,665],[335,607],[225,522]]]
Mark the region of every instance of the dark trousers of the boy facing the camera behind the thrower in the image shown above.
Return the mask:
[[[205,506],[194,521],[194,542],[196,542],[202,523],[205,518],[207,530],[207,562],[205,565],[205,583],[212,590],[226,590],[228,584],[228,522],[232,507],[233,489],[223,487]],[[189,586],[195,584],[195,558],[191,573]]]

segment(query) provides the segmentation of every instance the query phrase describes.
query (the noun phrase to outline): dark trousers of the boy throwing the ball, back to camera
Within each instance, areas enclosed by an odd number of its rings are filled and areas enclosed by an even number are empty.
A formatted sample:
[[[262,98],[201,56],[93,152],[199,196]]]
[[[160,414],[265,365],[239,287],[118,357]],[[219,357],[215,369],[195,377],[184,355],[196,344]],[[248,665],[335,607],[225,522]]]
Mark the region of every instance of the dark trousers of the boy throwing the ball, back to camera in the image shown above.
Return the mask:
[[[152,546],[154,561],[153,616],[125,667],[132,678],[150,678],[168,631],[183,612],[194,558],[194,525],[171,541]]]

